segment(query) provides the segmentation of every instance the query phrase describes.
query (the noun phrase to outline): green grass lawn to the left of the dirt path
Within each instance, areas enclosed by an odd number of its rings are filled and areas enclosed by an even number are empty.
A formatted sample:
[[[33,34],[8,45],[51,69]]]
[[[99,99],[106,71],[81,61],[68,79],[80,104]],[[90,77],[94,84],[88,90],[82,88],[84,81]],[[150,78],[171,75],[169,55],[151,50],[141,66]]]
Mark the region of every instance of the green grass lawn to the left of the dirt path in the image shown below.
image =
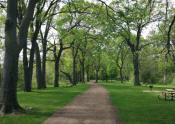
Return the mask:
[[[41,124],[56,110],[65,106],[75,96],[83,93],[89,86],[78,84],[74,87],[52,88],[33,90],[31,93],[18,92],[19,103],[22,107],[32,107],[26,114],[5,115],[0,117],[0,124]]]

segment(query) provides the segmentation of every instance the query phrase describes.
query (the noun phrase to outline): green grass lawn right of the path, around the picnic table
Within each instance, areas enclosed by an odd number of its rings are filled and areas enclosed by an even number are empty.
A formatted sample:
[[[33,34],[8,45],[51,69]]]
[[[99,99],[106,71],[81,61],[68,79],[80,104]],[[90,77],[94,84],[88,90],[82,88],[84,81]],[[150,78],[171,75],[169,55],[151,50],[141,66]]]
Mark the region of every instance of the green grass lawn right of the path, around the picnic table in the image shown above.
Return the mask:
[[[131,84],[103,83],[110,93],[112,103],[118,108],[123,124],[174,124],[175,100],[158,99],[160,93],[143,93],[148,86]],[[154,85],[153,90],[164,90],[167,86]],[[170,88],[170,87],[169,87]]]

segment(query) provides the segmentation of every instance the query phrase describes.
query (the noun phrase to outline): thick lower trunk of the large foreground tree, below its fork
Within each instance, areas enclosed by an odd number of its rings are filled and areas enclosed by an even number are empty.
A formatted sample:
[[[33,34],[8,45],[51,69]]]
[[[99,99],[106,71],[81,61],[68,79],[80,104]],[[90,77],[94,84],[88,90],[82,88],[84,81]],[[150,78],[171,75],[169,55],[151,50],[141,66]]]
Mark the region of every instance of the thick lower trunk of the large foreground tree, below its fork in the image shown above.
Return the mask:
[[[17,101],[17,80],[18,52],[13,50],[13,48],[6,48],[0,98],[0,114],[22,110]]]

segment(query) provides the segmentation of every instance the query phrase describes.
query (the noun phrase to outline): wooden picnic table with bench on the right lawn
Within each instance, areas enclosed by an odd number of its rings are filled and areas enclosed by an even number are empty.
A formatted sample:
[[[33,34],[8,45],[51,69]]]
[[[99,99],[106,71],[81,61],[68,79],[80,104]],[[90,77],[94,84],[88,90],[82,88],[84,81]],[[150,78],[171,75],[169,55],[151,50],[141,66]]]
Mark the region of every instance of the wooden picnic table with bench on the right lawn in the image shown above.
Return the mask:
[[[173,90],[173,89],[166,89],[165,91],[162,92],[162,95],[164,96],[165,100],[167,100],[168,98],[173,100],[174,97],[175,97],[175,90]]]

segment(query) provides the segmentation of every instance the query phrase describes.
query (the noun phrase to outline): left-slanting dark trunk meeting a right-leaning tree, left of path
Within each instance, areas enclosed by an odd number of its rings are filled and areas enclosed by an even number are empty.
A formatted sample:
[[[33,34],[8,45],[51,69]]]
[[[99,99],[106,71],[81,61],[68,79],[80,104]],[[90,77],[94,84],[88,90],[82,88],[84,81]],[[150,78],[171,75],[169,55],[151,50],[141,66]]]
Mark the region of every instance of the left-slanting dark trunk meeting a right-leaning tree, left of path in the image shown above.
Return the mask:
[[[38,46],[37,43],[36,43],[36,46],[35,46],[35,55],[36,55],[37,88],[38,89],[46,88],[46,85],[43,83],[42,71],[41,71],[41,57],[40,57],[39,46]]]

